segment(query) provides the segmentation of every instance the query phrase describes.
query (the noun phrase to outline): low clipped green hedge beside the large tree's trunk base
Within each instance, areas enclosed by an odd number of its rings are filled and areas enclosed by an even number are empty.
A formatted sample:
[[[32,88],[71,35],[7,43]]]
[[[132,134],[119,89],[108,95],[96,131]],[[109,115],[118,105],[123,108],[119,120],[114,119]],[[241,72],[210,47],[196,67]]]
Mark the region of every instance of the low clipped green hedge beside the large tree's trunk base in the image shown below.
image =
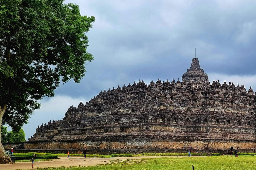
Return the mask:
[[[14,153],[13,156],[15,156],[16,160],[26,160],[31,159],[33,157],[33,154],[36,154],[35,159],[57,159],[58,156],[56,154],[52,153],[35,153],[35,152],[28,152],[28,153]]]

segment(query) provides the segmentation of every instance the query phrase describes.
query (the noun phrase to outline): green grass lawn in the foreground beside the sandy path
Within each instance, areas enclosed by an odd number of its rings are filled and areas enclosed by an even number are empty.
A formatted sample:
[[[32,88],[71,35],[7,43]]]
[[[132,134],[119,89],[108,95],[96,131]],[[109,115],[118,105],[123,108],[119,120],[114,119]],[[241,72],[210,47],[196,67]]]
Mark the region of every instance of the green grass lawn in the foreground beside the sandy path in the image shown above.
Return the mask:
[[[108,165],[90,167],[47,168],[49,170],[255,170],[256,156],[210,156],[179,158],[144,158],[114,160]],[[39,169],[37,169],[39,170]]]

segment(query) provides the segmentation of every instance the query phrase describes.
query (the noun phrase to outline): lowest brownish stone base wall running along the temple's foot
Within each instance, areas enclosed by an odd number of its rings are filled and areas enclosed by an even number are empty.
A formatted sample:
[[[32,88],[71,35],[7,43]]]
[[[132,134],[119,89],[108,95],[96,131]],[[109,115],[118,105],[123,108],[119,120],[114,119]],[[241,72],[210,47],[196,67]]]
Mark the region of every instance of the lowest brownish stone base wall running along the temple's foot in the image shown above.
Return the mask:
[[[225,152],[230,146],[239,152],[256,152],[256,141],[254,142],[219,142],[219,141],[173,141],[173,140],[130,140],[130,141],[44,141],[23,142],[24,149],[16,151],[53,152],[65,153],[72,150],[80,153],[85,147],[88,154],[112,154],[112,153],[165,153],[165,152],[187,152],[188,145],[192,152]],[[13,145],[4,145],[5,149]]]

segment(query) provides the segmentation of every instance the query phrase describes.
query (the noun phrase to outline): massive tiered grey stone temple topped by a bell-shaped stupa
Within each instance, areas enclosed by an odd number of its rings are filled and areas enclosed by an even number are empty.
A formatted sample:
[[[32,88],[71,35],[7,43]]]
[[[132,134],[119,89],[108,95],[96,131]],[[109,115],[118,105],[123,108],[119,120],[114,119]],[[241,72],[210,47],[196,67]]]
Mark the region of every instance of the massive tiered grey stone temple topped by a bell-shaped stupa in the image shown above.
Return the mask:
[[[94,153],[255,152],[256,97],[243,85],[208,81],[193,58],[182,81],[134,82],[71,106],[63,120],[42,124],[24,149]]]

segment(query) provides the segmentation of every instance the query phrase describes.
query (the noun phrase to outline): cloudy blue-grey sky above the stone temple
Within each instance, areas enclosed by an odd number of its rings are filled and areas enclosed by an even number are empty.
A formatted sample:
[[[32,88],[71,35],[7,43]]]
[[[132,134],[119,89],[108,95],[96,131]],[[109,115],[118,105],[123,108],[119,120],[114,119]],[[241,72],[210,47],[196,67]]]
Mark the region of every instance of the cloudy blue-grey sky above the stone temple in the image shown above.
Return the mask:
[[[101,90],[176,81],[192,58],[209,81],[224,80],[256,90],[256,1],[250,0],[65,0],[79,5],[81,15],[96,21],[86,35],[88,52],[80,84],[70,81],[44,97],[23,127],[26,140],[38,125],[62,120],[68,108],[84,104]]]

